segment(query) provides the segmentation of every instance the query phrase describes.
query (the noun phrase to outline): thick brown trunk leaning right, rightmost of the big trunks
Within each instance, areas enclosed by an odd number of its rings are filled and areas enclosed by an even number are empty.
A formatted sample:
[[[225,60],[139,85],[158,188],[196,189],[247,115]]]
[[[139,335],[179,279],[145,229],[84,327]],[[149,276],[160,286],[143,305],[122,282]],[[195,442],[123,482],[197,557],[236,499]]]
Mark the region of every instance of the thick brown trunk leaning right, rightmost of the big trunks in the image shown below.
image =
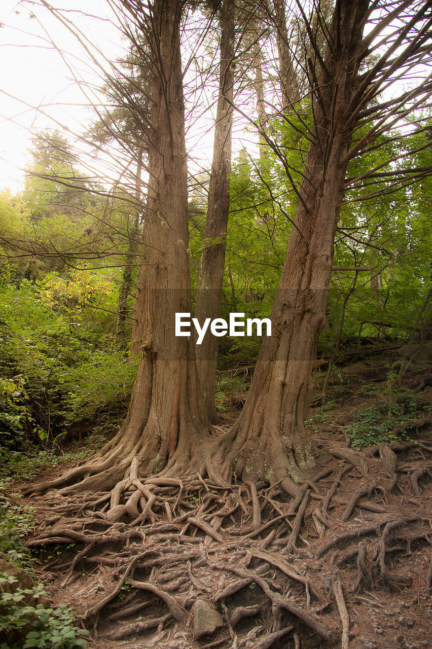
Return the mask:
[[[282,277],[245,407],[215,450],[225,480],[282,480],[313,462],[304,420],[315,387],[317,341],[326,323],[335,229],[344,197],[355,127],[346,110],[357,86],[368,0],[339,0],[328,50],[315,84],[314,127]]]

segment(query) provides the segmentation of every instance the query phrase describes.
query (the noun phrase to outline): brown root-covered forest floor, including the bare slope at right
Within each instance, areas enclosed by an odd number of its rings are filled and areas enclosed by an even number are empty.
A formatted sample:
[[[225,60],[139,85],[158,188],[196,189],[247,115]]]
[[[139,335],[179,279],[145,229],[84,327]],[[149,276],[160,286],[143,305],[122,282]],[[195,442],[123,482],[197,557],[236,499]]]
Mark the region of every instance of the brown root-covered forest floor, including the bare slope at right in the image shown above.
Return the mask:
[[[421,389],[404,394],[423,410],[354,450],[359,427],[379,435],[371,412],[396,398],[379,367],[335,374],[308,421],[330,455],[296,498],[268,482],[147,478],[130,485],[132,517],[115,524],[109,494],[26,498],[38,578],[54,604],[77,609],[90,648],[432,646],[432,388],[416,378]]]

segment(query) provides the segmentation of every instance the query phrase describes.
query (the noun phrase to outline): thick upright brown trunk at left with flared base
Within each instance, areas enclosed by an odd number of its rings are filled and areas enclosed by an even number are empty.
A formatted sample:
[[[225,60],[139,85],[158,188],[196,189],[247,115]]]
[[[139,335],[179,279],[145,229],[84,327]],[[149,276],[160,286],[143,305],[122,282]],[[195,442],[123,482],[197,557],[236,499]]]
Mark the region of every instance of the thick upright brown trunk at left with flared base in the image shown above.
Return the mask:
[[[60,493],[110,489],[138,472],[145,476],[163,469],[173,474],[200,471],[210,424],[198,382],[195,345],[193,337],[174,335],[175,313],[191,312],[181,5],[180,0],[156,0],[150,18],[152,106],[141,265],[143,342],[128,415],[99,456],[58,480],[38,485],[36,493],[80,477],[84,480]]]

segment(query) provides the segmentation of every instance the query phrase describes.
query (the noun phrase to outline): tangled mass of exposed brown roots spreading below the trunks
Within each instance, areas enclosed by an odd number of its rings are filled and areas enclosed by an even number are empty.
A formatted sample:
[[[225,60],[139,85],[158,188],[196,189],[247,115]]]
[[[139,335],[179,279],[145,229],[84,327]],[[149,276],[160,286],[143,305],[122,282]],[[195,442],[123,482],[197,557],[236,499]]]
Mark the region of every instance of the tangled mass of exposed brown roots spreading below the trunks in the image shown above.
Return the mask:
[[[351,633],[364,635],[359,606],[368,607],[359,602],[431,594],[432,452],[422,444],[415,459],[418,448],[332,448],[338,461],[293,496],[281,482],[214,484],[199,472],[139,478],[132,458],[106,493],[62,489],[36,500],[49,519],[29,546],[42,557],[64,548],[47,576],[110,641],[152,637],[162,649],[169,633],[189,646],[192,607],[204,599],[224,626],[193,646],[280,649],[307,637],[345,649]]]

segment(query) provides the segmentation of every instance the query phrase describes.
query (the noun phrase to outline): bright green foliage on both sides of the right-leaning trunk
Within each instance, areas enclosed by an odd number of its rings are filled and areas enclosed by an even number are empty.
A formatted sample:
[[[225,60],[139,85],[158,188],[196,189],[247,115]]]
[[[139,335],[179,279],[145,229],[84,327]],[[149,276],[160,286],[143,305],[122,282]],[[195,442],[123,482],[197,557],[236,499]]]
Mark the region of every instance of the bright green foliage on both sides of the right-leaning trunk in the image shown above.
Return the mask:
[[[302,120],[308,124],[310,117],[305,104]],[[304,124],[300,119],[295,121],[294,116],[293,120],[287,123],[275,119],[268,125],[278,156],[267,150],[257,160],[243,152],[233,165],[222,312],[235,310],[245,312],[246,317],[265,317],[271,311],[296,208],[296,194],[283,162],[292,170],[294,180],[298,180],[307,149],[307,140],[301,135]],[[361,129],[356,137],[361,136]],[[424,147],[427,138],[427,132],[416,130],[407,130],[390,141],[382,136],[379,147],[372,147],[369,153],[350,161],[348,179],[363,175],[365,179],[348,184],[348,200],[342,208],[335,239],[333,266],[339,270],[331,275],[330,327],[320,338],[318,353],[333,352],[342,315],[342,346],[355,346],[361,337],[377,342],[404,341],[409,337],[430,287],[432,180],[427,177],[415,186],[400,182],[393,193],[382,199],[356,201],[381,188],[380,177],[375,181],[367,175],[373,167],[383,165],[383,172],[407,166],[426,167],[428,149],[414,151]],[[392,158],[396,162],[386,167],[386,161]],[[191,228],[191,232],[196,236],[197,228]],[[198,236],[197,241],[202,245],[202,238]],[[197,260],[200,247],[194,245],[193,256]],[[195,266],[198,265],[196,262]],[[352,270],[355,267],[365,270],[356,276]],[[431,318],[432,302],[420,323],[424,331]],[[249,347],[251,341],[236,339],[232,349],[222,351],[228,351],[228,358],[234,362],[243,363],[247,356],[256,358],[259,341],[256,349]]]

